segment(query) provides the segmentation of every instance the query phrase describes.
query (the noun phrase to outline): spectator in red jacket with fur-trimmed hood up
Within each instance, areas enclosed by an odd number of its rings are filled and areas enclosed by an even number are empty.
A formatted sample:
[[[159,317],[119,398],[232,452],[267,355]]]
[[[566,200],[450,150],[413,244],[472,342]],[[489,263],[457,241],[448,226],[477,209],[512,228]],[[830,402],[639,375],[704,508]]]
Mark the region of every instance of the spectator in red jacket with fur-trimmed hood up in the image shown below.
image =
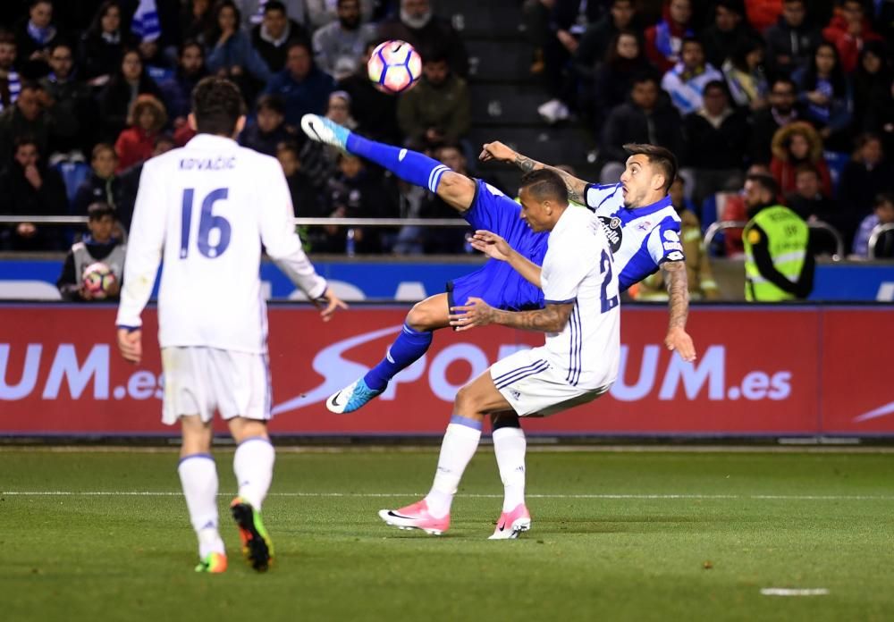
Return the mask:
[[[797,168],[810,164],[820,175],[823,196],[832,196],[829,166],[822,157],[822,138],[810,123],[797,121],[776,130],[771,149],[770,172],[783,195],[795,191]]]

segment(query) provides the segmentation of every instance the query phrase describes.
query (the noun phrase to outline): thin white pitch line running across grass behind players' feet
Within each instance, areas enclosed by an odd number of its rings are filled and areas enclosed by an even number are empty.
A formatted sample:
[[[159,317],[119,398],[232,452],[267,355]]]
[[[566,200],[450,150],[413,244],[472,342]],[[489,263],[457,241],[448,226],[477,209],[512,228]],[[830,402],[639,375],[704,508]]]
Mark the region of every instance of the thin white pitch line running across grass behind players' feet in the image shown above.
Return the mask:
[[[179,497],[171,491],[7,491],[7,497]],[[271,492],[268,497],[420,497],[421,492]],[[221,492],[218,497],[231,496]],[[502,499],[502,494],[463,494],[471,499]],[[819,501],[891,501],[892,495],[814,495],[814,494],[528,494],[528,499],[604,499],[604,500],[819,500]]]

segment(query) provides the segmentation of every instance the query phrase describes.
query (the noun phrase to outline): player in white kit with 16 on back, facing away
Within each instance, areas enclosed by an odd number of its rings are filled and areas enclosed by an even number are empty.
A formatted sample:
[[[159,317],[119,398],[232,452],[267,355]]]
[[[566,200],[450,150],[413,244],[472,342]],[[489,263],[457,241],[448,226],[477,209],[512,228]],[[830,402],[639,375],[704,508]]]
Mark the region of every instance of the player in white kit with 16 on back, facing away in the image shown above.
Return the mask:
[[[192,98],[190,125],[198,135],[149,160],[140,176],[116,320],[118,346],[125,359],[139,363],[140,315],[164,260],[158,294],[162,420],[181,423],[177,470],[198,535],[196,570],[218,573],[227,566],[210,454],[217,410],[238,444],[233,470],[239,492],[232,517],[243,553],[263,571],[274,553],[261,521],[274,449],[266,428],[271,395],[259,278],[262,245],[322,307],[324,321],[345,305],[301,248],[279,163],[233,140],[245,125],[239,88],[206,78]]]

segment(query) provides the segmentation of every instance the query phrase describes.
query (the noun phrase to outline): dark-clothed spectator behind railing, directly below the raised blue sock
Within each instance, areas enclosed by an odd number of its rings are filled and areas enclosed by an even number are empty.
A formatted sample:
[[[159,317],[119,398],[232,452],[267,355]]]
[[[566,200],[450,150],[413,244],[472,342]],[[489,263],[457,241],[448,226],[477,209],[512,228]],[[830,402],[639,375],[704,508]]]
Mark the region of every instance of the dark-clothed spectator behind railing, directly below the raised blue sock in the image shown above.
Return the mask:
[[[338,172],[329,180],[326,206],[333,218],[388,218],[397,216],[397,196],[391,183],[357,155],[342,153]],[[384,250],[381,228],[327,225],[315,249],[330,253],[379,253]],[[353,231],[353,233],[350,233]],[[350,241],[350,243],[349,243]],[[353,246],[354,248],[351,248]]]

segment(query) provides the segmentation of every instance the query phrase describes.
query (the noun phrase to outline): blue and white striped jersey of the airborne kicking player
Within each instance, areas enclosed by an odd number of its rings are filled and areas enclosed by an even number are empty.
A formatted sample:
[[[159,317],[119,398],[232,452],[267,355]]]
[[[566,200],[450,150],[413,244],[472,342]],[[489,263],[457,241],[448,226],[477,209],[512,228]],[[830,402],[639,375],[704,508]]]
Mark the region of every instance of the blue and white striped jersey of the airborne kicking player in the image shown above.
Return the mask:
[[[642,281],[666,261],[685,260],[679,216],[670,197],[651,206],[628,209],[620,183],[587,184],[584,200],[603,223],[621,291]]]

